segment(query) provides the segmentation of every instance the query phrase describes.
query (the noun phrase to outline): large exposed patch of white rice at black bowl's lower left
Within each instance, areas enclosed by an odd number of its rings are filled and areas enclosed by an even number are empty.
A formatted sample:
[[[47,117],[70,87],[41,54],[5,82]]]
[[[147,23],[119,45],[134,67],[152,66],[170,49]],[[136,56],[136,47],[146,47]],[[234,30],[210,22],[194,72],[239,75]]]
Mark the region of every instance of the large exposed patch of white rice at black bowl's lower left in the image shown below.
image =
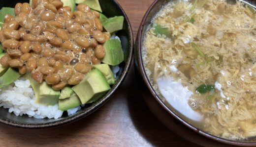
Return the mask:
[[[0,107],[8,108],[16,116],[27,114],[36,119],[58,119],[63,114],[63,111],[58,110],[58,104],[45,106],[35,103],[30,81],[24,78],[19,78],[14,84],[0,90]]]

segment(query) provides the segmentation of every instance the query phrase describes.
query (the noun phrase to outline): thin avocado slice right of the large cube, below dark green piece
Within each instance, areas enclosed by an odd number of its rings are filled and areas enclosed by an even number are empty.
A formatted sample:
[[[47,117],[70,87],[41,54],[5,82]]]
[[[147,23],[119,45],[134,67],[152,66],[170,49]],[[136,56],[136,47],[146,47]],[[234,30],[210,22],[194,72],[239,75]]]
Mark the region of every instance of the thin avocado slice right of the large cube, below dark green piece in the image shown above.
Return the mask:
[[[111,71],[109,65],[107,65],[107,64],[96,64],[96,65],[94,65],[94,67],[96,69],[98,69],[101,73],[103,73],[103,75],[107,79],[107,82],[108,82],[109,85],[115,84],[115,76],[114,76],[114,73]]]

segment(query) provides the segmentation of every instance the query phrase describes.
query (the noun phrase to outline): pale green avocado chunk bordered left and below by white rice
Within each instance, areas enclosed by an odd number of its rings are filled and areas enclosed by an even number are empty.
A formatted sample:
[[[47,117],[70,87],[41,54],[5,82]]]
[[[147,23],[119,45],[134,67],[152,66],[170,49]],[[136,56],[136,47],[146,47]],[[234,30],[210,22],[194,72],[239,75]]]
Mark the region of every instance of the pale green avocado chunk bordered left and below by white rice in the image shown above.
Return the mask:
[[[55,105],[59,101],[60,91],[53,90],[46,82],[37,83],[31,73],[26,73],[24,78],[30,80],[30,84],[35,94],[35,102],[44,105]]]

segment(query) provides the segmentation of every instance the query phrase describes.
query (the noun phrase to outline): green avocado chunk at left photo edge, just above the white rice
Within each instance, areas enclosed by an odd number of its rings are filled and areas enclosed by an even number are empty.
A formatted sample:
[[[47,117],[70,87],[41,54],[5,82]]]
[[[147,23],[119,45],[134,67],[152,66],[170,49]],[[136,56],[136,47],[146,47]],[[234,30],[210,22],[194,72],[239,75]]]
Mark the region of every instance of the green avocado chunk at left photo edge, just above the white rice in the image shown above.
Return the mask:
[[[8,70],[0,77],[0,88],[7,86],[17,80],[21,74],[14,70],[13,68],[8,68]]]

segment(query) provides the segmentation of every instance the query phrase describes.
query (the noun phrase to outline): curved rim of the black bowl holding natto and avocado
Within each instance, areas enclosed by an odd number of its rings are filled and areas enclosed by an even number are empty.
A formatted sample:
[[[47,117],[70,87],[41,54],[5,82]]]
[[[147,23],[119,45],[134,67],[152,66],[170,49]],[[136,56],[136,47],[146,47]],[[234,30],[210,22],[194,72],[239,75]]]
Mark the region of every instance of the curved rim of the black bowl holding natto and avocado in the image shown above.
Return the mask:
[[[7,120],[7,119],[0,118],[0,123],[6,124],[6,125],[9,125],[9,126],[18,127],[18,128],[25,128],[25,129],[44,129],[44,128],[59,127],[59,126],[65,125],[65,124],[76,122],[76,121],[90,115],[91,113],[96,111],[99,107],[101,107],[103,104],[105,104],[111,98],[111,96],[118,90],[120,85],[124,82],[124,79],[126,78],[126,76],[128,74],[128,71],[129,71],[130,66],[131,66],[132,58],[133,58],[133,42],[134,42],[133,41],[132,27],[130,25],[127,14],[125,13],[122,6],[116,0],[112,0],[112,1],[113,1],[114,5],[116,7],[118,7],[118,9],[120,9],[120,11],[122,12],[122,15],[125,18],[125,22],[127,21],[129,54],[127,56],[127,61],[126,61],[126,65],[123,69],[123,72],[121,73],[117,83],[115,83],[113,85],[113,87],[109,90],[109,92],[103,98],[94,102],[92,104],[93,106],[90,106],[89,108],[87,108],[85,110],[82,110],[80,113],[76,112],[74,115],[72,115],[70,117],[67,117],[67,118],[64,118],[63,120],[57,120],[55,122],[49,122],[49,123],[40,123],[40,124],[37,123],[36,124],[36,123],[17,123],[15,121],[10,121],[10,120]],[[20,117],[20,116],[18,116],[18,117]]]

